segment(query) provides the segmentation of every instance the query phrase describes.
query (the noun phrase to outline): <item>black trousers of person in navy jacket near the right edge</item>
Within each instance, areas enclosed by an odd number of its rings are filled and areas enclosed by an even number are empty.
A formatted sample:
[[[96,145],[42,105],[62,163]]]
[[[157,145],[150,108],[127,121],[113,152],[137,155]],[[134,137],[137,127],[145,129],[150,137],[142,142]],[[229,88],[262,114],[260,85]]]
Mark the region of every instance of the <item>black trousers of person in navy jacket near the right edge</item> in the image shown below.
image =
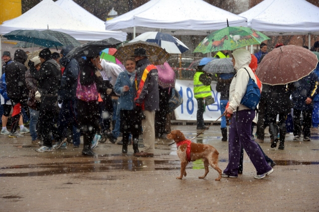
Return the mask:
[[[304,137],[310,137],[310,127],[312,121],[312,110],[299,110],[294,109],[294,135],[301,136],[302,132],[304,132]],[[302,128],[302,121],[301,115],[303,116],[303,125]]]

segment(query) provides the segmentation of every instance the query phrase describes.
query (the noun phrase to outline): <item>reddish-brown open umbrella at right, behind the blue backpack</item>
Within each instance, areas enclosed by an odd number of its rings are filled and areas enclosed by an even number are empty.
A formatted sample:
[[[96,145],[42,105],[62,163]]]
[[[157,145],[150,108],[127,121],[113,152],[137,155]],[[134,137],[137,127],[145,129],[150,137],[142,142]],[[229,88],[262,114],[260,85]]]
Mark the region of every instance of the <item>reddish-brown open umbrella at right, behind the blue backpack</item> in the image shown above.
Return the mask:
[[[286,85],[309,75],[317,63],[316,55],[304,47],[281,46],[264,57],[256,75],[262,83]]]

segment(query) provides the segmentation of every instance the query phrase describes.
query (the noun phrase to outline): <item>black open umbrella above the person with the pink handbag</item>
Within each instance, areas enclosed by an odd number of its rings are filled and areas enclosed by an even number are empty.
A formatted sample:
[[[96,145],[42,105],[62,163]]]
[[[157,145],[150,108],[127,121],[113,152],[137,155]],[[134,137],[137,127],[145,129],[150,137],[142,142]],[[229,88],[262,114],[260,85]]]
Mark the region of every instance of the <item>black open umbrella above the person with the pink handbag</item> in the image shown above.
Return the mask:
[[[120,43],[122,43],[122,41],[112,37],[104,40],[90,41],[75,47],[66,56],[69,58],[87,57],[92,54],[92,52],[99,53],[106,48],[115,48]]]

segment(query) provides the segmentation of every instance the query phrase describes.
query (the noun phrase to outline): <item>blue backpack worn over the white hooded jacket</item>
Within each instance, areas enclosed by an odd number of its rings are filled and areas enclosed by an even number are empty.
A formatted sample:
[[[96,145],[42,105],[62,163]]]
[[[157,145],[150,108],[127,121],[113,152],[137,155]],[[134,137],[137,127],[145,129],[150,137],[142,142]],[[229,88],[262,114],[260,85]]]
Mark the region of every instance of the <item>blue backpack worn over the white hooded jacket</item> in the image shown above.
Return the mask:
[[[247,69],[245,68],[248,73]],[[249,75],[249,73],[248,73]],[[247,84],[246,94],[241,100],[240,104],[248,107],[249,109],[255,110],[260,100],[260,89],[255,81],[249,75],[249,81]]]

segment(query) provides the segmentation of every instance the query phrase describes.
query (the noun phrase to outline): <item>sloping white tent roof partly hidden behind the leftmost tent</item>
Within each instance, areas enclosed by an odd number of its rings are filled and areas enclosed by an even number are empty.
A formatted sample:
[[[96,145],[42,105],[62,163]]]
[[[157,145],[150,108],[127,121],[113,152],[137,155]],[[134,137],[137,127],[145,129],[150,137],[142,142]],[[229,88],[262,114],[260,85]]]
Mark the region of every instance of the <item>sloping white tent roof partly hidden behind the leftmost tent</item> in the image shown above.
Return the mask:
[[[88,12],[73,0],[57,0],[55,3],[69,13],[72,17],[82,21],[86,25],[93,26],[101,31],[105,30],[105,22],[103,20]]]

